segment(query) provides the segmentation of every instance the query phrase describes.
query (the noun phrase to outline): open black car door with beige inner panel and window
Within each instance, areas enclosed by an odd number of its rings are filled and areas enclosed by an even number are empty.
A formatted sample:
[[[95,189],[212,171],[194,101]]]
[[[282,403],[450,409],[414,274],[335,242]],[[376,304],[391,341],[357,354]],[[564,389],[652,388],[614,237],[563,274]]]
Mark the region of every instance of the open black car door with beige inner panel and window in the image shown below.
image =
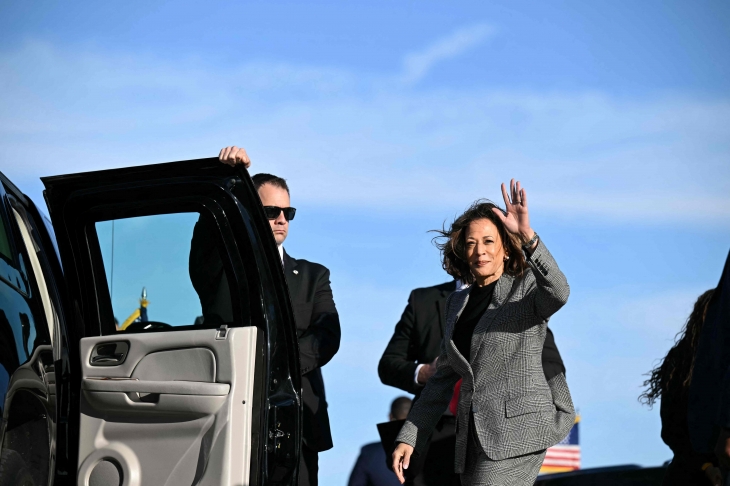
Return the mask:
[[[247,171],[201,159],[43,182],[73,482],[296,484],[296,328]]]

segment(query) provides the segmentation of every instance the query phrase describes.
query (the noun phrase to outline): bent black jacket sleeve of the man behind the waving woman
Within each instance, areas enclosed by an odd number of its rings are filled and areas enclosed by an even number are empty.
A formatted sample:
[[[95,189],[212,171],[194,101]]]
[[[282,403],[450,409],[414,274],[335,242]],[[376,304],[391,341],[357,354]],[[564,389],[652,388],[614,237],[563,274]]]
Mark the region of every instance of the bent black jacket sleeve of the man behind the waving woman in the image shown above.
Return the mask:
[[[412,344],[412,333],[416,322],[413,306],[413,292],[408,297],[408,305],[395,326],[393,337],[385,348],[380,363],[378,376],[384,385],[394,386],[408,393],[416,393],[420,388],[413,382],[416,373],[416,349]]]

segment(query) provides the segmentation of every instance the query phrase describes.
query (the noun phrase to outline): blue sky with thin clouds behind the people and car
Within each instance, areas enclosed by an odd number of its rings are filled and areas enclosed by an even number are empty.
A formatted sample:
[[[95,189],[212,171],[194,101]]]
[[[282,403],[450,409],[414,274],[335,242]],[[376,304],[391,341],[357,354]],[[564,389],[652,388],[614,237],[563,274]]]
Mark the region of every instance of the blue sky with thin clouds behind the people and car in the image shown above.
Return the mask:
[[[659,464],[643,374],[730,248],[728,52],[722,1],[1,2],[0,170],[41,204],[40,176],[230,144],[286,177],[343,327],[325,486],[400,394],[376,366],[409,291],[446,280],[427,231],[519,178],[572,288],[584,466]]]

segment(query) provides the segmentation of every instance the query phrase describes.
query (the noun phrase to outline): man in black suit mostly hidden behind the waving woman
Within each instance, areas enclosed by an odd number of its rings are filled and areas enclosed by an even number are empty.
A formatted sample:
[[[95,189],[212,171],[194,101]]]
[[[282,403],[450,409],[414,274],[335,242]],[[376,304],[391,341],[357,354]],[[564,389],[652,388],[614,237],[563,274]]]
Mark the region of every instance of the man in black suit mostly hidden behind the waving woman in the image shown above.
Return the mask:
[[[378,364],[380,381],[415,395],[414,403],[426,381],[436,372],[434,362],[441,352],[444,334],[446,298],[461,286],[456,281],[415,289],[395,326],[393,337]],[[548,328],[542,350],[545,378],[565,373],[555,338]],[[407,478],[414,485],[460,484],[454,473],[456,429],[453,416],[444,415],[431,438],[423,469],[416,477]],[[418,461],[420,465],[421,461]],[[417,466],[418,467],[418,466]]]

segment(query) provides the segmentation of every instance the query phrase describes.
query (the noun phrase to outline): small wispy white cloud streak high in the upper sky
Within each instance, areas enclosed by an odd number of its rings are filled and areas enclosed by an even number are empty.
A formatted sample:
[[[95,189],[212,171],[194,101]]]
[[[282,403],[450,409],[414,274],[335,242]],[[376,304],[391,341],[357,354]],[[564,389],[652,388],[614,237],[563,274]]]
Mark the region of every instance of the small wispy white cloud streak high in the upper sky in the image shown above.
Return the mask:
[[[402,81],[415,83],[439,62],[463,54],[493,36],[495,29],[487,24],[464,27],[437,40],[420,52],[408,54],[403,61]]]

